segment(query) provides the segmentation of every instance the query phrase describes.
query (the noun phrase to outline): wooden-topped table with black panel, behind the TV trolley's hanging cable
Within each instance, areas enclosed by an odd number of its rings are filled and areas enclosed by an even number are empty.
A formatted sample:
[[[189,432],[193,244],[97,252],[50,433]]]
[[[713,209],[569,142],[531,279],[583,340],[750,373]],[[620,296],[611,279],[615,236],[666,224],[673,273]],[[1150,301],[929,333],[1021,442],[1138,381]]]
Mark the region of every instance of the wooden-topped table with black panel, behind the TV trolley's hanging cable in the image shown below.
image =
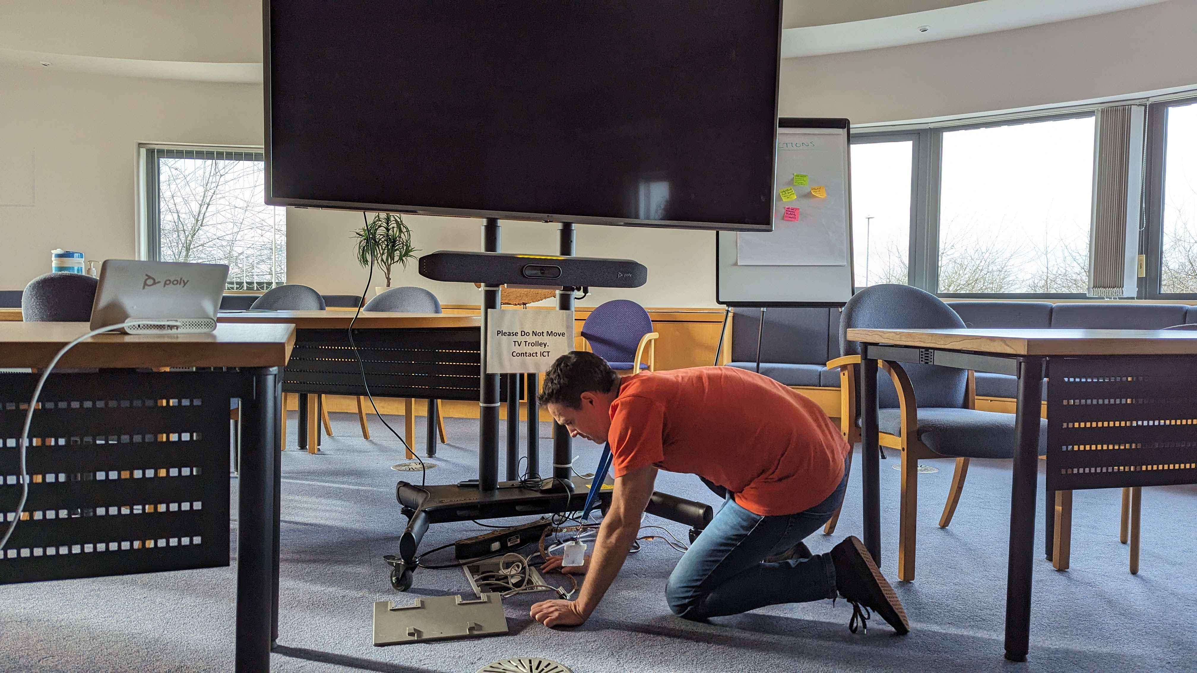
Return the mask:
[[[296,352],[284,370],[282,389],[298,393],[300,449],[318,450],[321,394],[366,395],[357,346],[370,393],[406,399],[405,442],[415,435],[414,399],[429,400],[426,453],[436,454],[437,400],[478,400],[481,319],[478,315],[338,310],[223,311],[221,323],[290,323],[298,331]],[[353,344],[348,327],[353,325]],[[408,457],[413,454],[408,453]]]

